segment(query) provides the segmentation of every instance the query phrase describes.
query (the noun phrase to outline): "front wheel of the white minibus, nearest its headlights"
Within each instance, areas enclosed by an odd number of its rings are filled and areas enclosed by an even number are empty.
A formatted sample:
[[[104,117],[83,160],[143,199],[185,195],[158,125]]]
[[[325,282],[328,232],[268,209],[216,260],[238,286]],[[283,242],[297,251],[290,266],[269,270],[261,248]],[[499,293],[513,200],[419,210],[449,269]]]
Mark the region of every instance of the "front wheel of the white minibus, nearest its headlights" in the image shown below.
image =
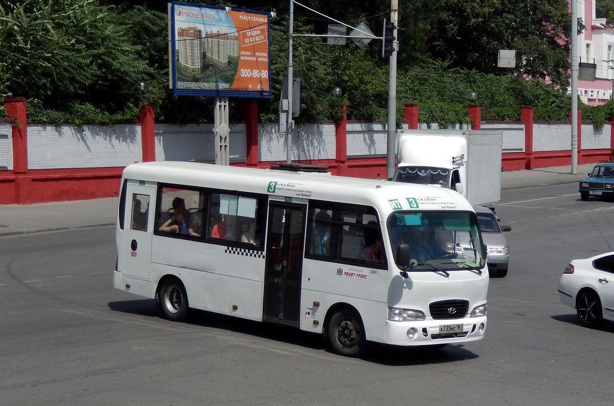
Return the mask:
[[[365,329],[359,314],[352,308],[341,308],[330,318],[327,335],[338,354],[357,357],[367,349]]]

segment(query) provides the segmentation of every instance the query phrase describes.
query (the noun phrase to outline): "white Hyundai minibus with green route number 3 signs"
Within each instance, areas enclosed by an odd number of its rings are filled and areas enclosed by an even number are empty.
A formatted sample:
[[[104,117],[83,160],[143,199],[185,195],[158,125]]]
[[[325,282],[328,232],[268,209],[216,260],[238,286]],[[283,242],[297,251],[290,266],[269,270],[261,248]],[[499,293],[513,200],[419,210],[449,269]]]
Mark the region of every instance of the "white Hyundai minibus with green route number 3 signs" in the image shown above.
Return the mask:
[[[284,324],[348,356],[486,330],[478,220],[445,188],[292,164],[138,163],[123,171],[116,240],[114,287],[156,298],[171,320],[194,308]]]

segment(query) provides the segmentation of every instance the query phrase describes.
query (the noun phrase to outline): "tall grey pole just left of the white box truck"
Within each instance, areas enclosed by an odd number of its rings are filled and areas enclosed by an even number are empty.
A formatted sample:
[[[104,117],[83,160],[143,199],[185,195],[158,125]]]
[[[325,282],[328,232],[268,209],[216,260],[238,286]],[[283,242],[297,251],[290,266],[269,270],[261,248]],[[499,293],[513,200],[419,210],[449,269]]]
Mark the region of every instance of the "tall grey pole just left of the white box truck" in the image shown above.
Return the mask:
[[[391,0],[390,21],[398,27],[398,0]],[[397,37],[397,29],[394,30]],[[397,52],[398,41],[395,40],[395,51],[390,56],[388,73],[388,126],[386,142],[386,178],[394,175],[394,157],[397,149]]]

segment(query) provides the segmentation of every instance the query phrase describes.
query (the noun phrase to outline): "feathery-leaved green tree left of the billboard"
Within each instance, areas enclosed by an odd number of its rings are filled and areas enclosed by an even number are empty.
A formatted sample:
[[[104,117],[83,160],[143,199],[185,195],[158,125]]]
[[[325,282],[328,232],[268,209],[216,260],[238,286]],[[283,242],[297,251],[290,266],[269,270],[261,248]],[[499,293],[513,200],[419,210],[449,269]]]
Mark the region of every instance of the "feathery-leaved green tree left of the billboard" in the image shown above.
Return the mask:
[[[96,0],[0,1],[0,96],[25,96],[29,114],[136,117],[136,84],[155,71],[128,22]]]

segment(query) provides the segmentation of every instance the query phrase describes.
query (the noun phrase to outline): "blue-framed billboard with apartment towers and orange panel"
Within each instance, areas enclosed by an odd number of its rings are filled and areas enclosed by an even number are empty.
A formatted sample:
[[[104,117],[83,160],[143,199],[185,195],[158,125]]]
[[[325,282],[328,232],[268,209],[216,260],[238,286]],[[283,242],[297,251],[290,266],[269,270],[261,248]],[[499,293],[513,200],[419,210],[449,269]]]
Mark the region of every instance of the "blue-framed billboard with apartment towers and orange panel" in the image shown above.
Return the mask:
[[[271,97],[270,14],[169,4],[170,85],[177,96]]]

